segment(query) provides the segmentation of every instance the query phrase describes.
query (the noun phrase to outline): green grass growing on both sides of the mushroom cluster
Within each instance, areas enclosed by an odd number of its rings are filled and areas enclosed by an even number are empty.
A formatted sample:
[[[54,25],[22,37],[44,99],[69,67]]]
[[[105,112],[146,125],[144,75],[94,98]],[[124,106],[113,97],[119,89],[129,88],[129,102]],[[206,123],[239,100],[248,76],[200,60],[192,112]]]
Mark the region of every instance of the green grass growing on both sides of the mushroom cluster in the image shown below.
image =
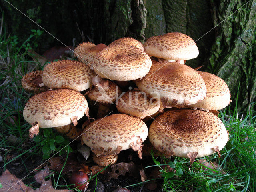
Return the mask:
[[[25,42],[19,42],[16,36],[7,36],[5,31],[0,34],[0,154],[4,159],[2,169],[5,170],[13,161],[20,160],[29,173],[26,161],[33,156],[42,157],[43,153],[38,142],[28,139],[30,125],[24,122],[22,110],[32,94],[22,90],[21,78],[27,72],[43,68],[27,52],[30,47],[36,47],[40,32],[32,31],[32,35]],[[164,191],[256,191],[256,112],[247,110],[246,114],[239,114],[236,110],[232,112],[226,109],[220,111],[220,118],[230,133],[228,144],[221,150],[221,158],[217,154],[197,158],[191,166],[185,158],[153,158],[155,165],[152,166],[158,166],[162,172],[162,178],[156,179],[156,182]],[[8,138],[10,135],[14,136],[16,142]],[[14,158],[8,158],[10,155],[14,155]],[[206,169],[208,165],[203,164],[204,161],[216,163],[217,170],[216,167]],[[166,164],[174,168],[175,172],[168,172]],[[55,174],[53,178],[54,187],[70,188],[61,173]],[[129,187],[130,190],[132,186]]]

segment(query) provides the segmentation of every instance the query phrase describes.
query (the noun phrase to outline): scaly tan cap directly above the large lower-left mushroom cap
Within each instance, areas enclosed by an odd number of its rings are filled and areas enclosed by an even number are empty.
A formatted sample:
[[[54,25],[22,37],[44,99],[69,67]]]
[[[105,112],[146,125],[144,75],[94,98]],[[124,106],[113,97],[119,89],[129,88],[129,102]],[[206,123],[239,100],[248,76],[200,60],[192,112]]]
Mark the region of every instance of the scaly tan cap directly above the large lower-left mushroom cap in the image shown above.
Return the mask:
[[[42,80],[50,88],[83,91],[92,85],[92,76],[93,70],[82,62],[59,60],[49,63],[44,68]]]

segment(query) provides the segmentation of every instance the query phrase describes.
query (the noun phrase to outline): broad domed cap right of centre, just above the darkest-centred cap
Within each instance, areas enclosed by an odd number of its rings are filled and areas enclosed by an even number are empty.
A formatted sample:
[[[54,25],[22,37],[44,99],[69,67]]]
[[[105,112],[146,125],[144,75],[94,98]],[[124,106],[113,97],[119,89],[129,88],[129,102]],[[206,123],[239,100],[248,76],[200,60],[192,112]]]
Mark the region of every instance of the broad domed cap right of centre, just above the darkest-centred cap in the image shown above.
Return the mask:
[[[163,64],[152,60],[150,72],[136,81],[136,85],[153,97],[160,96],[164,108],[182,108],[206,96],[202,76],[191,67],[178,63]]]

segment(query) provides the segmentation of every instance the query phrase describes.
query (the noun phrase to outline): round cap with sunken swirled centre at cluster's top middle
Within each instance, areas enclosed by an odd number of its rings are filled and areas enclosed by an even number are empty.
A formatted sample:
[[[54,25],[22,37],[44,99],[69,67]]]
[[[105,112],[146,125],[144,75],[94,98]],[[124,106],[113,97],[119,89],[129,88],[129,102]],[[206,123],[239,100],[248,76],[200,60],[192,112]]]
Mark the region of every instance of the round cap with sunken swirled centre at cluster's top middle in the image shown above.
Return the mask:
[[[92,66],[102,78],[128,81],[145,76],[150,70],[151,59],[135,46],[113,44],[96,55]]]

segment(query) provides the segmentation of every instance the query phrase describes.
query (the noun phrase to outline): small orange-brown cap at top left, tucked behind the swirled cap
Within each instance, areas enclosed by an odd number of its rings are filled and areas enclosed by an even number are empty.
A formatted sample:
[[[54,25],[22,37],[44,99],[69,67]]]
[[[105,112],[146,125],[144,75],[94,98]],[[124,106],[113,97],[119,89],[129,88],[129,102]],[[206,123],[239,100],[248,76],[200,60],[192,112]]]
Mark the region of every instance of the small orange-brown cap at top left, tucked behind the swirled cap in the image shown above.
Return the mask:
[[[84,42],[74,49],[74,56],[77,57],[80,62],[91,64],[96,54],[105,47],[106,45],[102,43],[95,45],[90,42]]]

